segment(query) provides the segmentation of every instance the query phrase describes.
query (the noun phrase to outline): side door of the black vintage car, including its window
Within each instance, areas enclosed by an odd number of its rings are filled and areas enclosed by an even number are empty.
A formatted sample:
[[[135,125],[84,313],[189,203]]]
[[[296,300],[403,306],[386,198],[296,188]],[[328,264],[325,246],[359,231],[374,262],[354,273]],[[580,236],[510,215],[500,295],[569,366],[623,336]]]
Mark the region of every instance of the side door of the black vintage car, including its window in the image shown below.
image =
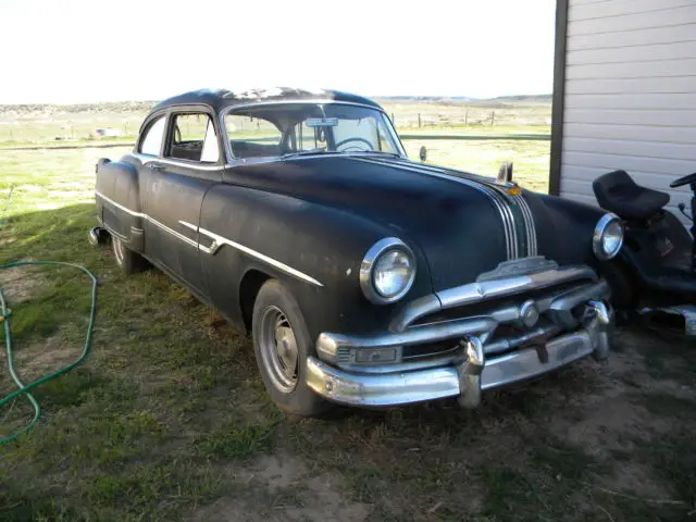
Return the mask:
[[[206,192],[222,179],[223,154],[212,113],[171,111],[159,158],[140,176],[146,256],[208,300],[198,250],[198,220]]]

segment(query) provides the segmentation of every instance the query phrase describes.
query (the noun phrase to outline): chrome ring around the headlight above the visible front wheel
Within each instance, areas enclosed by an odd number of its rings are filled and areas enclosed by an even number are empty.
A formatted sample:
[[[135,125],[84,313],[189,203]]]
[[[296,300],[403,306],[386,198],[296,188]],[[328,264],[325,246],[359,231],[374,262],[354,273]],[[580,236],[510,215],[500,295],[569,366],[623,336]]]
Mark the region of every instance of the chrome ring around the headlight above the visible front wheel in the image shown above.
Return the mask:
[[[410,265],[410,272],[405,284],[393,295],[384,295],[380,291],[374,281],[375,268],[384,256],[393,252],[399,252],[406,256]],[[415,281],[415,257],[413,251],[398,237],[385,237],[375,243],[365,253],[362,263],[360,263],[360,288],[370,302],[375,304],[389,304],[401,299],[408,294]]]

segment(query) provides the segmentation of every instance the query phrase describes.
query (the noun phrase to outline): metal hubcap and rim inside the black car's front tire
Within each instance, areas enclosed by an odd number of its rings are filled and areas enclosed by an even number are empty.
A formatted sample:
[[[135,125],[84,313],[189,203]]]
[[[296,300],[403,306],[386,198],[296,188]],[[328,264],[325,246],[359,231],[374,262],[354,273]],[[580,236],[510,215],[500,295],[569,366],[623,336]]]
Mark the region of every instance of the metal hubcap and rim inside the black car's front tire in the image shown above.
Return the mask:
[[[261,357],[273,384],[283,393],[297,385],[299,351],[293,326],[276,307],[269,307],[261,316],[259,332]]]

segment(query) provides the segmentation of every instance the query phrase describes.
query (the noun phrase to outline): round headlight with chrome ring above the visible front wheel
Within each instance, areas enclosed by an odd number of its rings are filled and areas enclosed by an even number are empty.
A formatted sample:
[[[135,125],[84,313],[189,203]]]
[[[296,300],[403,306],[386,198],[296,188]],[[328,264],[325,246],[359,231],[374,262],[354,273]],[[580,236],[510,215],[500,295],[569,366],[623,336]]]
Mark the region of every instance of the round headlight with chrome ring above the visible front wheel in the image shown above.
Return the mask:
[[[415,278],[415,258],[411,249],[396,237],[375,243],[360,265],[360,287],[375,304],[401,299]]]

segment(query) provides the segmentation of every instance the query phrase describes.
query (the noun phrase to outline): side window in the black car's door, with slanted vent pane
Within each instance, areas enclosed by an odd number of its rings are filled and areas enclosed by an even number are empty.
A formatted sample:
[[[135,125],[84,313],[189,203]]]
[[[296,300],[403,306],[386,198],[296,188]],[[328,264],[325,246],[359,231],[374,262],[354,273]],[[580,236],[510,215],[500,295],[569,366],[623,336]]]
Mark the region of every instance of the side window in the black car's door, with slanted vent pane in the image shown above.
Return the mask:
[[[215,127],[208,114],[176,114],[166,154],[177,160],[216,162],[220,158]]]

